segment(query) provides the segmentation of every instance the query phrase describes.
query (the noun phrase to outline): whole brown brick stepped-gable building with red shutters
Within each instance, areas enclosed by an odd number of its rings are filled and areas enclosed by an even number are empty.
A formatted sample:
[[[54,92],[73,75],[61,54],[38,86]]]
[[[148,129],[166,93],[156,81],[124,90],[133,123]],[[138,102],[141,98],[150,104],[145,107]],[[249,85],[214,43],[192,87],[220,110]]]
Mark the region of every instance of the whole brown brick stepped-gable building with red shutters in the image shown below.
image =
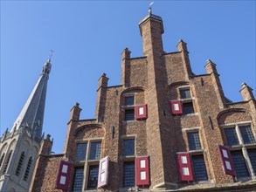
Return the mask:
[[[95,119],[71,109],[63,154],[41,143],[31,191],[256,189],[256,101],[225,98],[216,65],[190,67],[186,43],[163,51],[163,20],[139,24],[143,56],[121,53],[121,85],[99,79]]]

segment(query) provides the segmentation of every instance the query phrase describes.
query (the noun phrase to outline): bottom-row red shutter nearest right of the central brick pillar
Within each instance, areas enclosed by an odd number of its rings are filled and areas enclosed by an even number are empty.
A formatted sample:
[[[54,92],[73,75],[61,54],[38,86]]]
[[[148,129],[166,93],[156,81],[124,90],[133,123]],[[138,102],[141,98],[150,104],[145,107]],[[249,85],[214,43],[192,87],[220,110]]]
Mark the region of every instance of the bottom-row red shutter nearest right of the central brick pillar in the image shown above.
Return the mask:
[[[193,181],[193,173],[191,168],[190,154],[178,153],[177,163],[181,181]]]

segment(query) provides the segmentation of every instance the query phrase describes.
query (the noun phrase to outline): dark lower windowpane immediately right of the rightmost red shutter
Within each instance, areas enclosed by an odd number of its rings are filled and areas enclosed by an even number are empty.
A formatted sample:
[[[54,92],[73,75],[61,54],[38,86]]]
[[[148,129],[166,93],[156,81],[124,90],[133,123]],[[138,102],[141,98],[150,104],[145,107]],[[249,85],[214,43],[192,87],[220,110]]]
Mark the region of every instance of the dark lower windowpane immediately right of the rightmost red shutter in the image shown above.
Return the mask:
[[[248,169],[246,167],[246,161],[241,151],[232,151],[232,160],[236,170],[237,178],[248,177]]]

